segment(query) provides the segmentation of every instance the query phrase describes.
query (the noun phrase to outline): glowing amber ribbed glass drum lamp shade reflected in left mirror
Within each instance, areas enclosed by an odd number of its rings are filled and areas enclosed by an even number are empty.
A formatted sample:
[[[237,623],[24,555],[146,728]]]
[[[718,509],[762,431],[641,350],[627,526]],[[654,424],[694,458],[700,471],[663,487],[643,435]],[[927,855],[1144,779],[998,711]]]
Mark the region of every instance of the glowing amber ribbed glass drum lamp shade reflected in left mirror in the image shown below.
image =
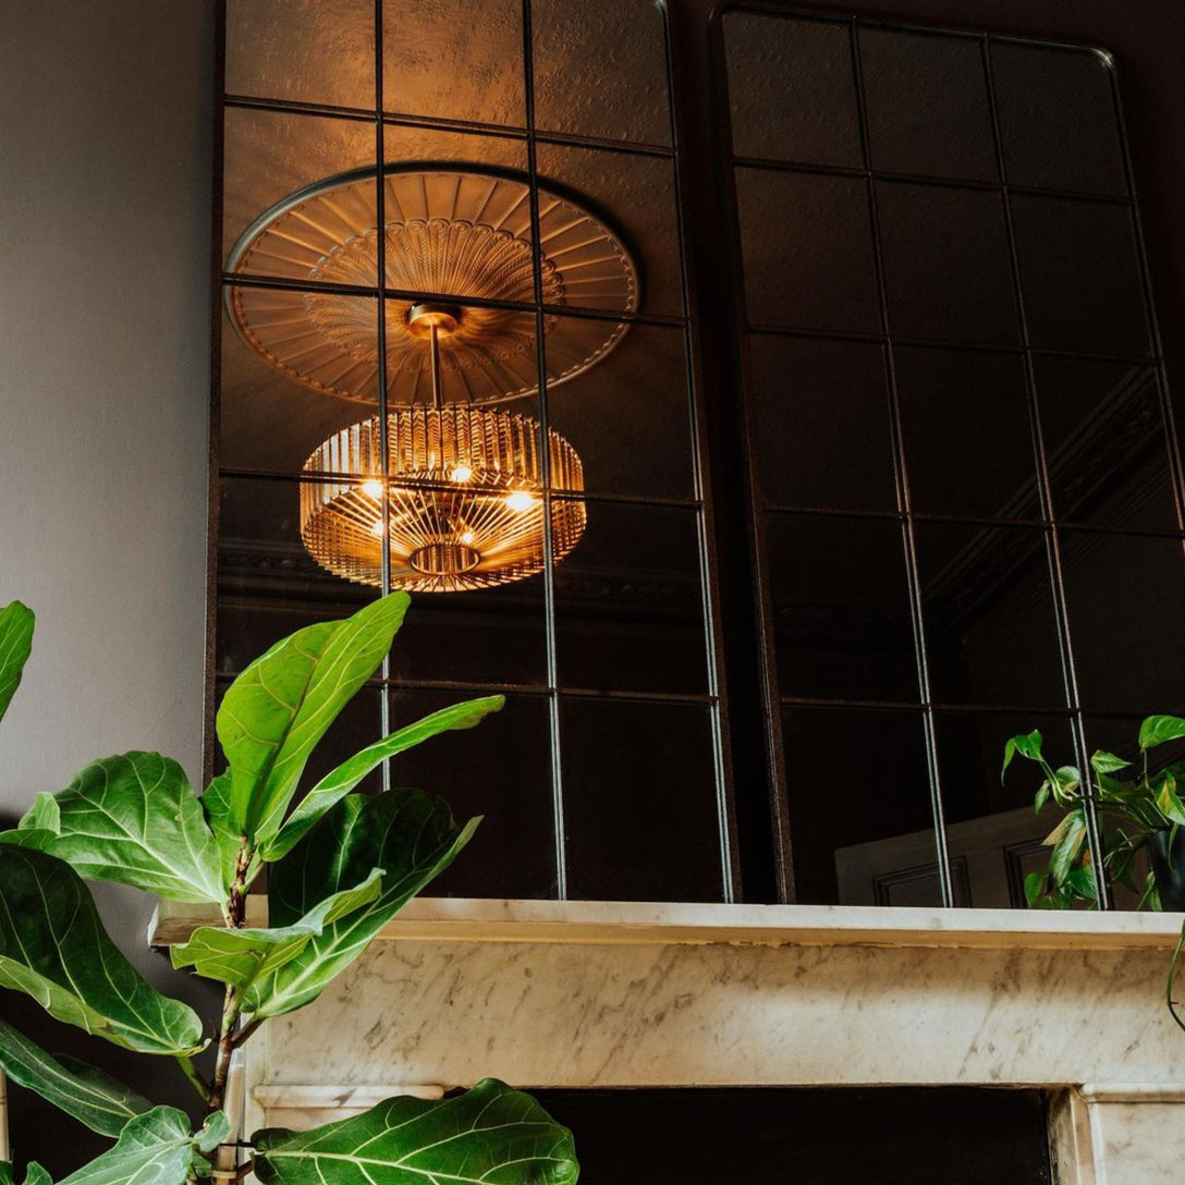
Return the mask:
[[[459,592],[525,579],[544,566],[540,428],[529,416],[473,404],[415,404],[387,416],[386,526],[391,588]],[[579,494],[576,450],[549,433],[553,492]],[[383,582],[383,465],[379,419],[331,436],[305,462],[301,538],[328,571]],[[313,474],[358,474],[352,479]],[[552,557],[579,542],[577,498],[551,499]]]

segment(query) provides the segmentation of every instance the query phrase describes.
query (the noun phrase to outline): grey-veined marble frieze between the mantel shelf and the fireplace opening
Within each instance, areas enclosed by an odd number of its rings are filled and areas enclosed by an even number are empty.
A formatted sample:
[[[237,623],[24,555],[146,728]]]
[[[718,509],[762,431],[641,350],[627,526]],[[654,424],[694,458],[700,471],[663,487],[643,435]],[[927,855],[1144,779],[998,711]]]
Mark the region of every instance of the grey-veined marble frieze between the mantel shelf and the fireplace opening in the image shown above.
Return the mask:
[[[1160,950],[376,944],[268,1084],[1180,1083]]]

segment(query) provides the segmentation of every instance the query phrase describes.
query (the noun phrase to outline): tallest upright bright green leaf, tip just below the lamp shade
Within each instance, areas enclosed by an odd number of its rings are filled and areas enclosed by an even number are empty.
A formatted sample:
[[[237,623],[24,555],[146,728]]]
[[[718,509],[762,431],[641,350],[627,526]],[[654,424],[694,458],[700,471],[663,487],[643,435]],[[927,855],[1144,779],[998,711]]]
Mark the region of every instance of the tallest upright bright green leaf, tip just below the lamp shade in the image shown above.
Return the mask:
[[[280,830],[309,754],[390,651],[408,603],[392,592],[344,621],[297,630],[228,688],[217,730],[236,834],[265,840]]]

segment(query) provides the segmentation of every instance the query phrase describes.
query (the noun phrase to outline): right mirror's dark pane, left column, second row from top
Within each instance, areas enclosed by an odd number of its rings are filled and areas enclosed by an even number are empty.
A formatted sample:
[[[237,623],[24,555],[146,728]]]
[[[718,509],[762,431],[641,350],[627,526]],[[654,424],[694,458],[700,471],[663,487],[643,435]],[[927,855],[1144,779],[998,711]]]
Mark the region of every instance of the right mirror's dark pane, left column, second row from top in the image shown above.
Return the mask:
[[[878,333],[864,181],[737,169],[750,325]]]

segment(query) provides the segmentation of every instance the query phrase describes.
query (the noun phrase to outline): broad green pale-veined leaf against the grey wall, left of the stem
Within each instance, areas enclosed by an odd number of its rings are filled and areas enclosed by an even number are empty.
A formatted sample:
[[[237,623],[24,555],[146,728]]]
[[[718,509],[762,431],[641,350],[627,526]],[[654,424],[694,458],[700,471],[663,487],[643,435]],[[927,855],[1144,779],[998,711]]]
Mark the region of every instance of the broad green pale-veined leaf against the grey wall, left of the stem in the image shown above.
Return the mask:
[[[88,766],[66,789],[39,794],[0,839],[39,847],[91,880],[117,880],[173,901],[224,899],[219,853],[181,767],[159,752]]]

